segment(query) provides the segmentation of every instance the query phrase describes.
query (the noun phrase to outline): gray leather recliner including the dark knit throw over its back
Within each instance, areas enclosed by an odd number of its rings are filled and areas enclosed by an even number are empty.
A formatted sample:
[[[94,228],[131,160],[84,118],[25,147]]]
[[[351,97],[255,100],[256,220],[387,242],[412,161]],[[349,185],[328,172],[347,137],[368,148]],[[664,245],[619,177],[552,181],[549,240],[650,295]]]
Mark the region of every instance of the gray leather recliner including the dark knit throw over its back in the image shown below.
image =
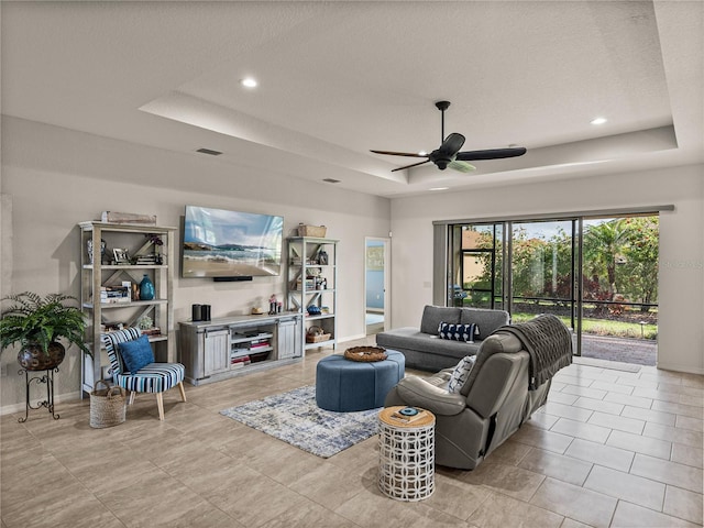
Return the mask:
[[[540,316],[487,337],[469,373],[406,376],[384,406],[433,413],[436,463],[473,470],[544,404],[552,376],[571,362],[570,330],[554,316]]]

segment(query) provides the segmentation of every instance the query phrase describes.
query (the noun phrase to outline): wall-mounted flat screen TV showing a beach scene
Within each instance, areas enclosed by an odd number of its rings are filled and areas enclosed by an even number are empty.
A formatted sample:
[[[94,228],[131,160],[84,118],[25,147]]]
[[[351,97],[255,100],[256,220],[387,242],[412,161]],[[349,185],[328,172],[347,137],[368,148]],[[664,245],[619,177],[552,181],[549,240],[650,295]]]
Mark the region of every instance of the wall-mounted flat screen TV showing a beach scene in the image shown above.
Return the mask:
[[[284,218],[186,206],[183,277],[279,275]]]

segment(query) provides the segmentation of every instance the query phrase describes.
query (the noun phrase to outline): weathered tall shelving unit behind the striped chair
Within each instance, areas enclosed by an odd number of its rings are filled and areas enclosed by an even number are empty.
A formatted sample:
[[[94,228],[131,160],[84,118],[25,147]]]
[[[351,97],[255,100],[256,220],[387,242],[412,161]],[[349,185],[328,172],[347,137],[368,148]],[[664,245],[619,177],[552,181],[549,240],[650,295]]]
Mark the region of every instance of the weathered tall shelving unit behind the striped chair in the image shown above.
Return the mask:
[[[176,361],[174,346],[174,239],[176,228],[121,224],[87,221],[80,228],[80,304],[88,318],[86,342],[94,351],[94,358],[84,354],[82,391],[90,393],[96,381],[102,378],[102,366],[109,365],[107,354],[101,350],[102,327],[123,324],[135,326],[138,319],[148,316],[161,333],[150,336],[156,361]],[[162,245],[155,243],[162,241]],[[88,254],[92,244],[92,261]],[[101,254],[101,241],[106,253]],[[131,258],[154,262],[148,264],[117,264],[114,249],[127,250]],[[133,262],[133,261],[131,261]],[[139,284],[144,275],[154,283],[155,296],[151,300],[129,299],[108,301],[100,298],[101,288],[117,288],[123,282]],[[111,299],[116,300],[116,299]]]

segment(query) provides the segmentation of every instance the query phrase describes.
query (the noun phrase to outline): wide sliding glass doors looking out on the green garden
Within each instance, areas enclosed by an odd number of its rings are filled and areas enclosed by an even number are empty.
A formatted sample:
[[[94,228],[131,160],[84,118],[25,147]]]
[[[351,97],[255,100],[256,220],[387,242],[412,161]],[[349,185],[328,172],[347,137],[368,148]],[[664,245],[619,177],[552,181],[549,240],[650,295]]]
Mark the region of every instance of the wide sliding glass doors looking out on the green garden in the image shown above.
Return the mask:
[[[658,216],[573,217],[450,227],[448,301],[553,314],[576,354],[654,364]]]

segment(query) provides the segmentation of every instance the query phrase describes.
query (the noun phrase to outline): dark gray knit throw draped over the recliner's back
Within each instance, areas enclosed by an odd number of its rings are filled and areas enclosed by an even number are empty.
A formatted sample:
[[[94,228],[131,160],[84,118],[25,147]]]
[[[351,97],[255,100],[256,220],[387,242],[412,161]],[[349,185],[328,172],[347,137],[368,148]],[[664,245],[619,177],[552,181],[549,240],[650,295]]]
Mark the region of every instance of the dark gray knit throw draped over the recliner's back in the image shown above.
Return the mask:
[[[516,336],[530,354],[529,391],[535,391],[572,363],[572,334],[556,316],[543,314],[527,322],[507,324],[496,331]]]

